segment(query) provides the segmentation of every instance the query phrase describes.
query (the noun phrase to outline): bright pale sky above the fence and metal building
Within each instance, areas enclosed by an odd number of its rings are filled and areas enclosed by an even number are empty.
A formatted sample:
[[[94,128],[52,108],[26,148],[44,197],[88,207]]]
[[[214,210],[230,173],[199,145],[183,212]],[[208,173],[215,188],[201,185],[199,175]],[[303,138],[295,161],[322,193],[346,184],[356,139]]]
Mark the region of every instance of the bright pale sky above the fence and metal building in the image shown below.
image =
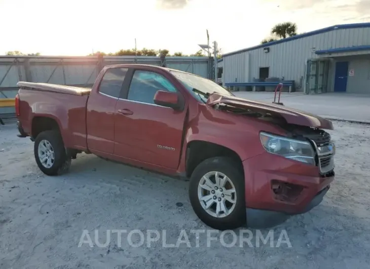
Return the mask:
[[[185,54],[217,41],[258,45],[279,22],[298,32],[370,22],[370,0],[0,0],[0,54],[88,55],[143,47]]]

